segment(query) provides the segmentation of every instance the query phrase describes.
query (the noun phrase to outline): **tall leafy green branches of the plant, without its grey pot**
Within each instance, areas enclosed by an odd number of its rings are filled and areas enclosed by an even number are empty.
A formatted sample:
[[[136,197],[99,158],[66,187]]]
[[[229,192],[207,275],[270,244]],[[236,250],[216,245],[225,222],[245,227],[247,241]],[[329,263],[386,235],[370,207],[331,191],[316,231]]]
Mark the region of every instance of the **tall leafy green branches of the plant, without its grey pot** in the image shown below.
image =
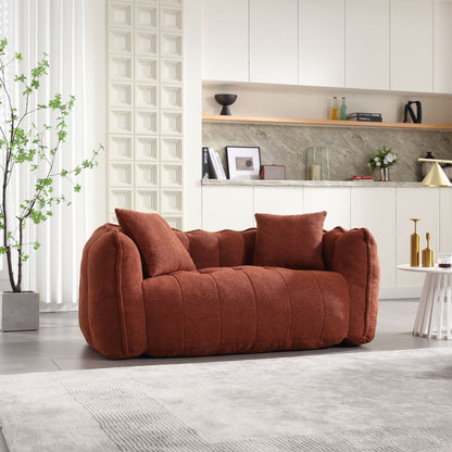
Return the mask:
[[[97,156],[102,146],[92,151],[89,159],[83,160],[74,168],[62,168],[54,172],[56,156],[62,150],[63,143],[67,138],[67,116],[70,115],[75,97],[70,96],[67,101],[63,101],[61,93],[56,93],[47,103],[37,104],[30,108],[30,100],[40,88],[40,80],[48,75],[49,62],[45,53],[36,67],[32,68],[28,75],[18,73],[13,76],[12,83],[18,85],[20,92],[24,98],[24,108],[20,112],[13,105],[7,80],[7,68],[13,62],[20,63],[23,60],[21,53],[15,53],[14,58],[5,61],[8,40],[0,40],[0,104],[7,103],[7,116],[0,122],[0,168],[3,175],[2,190],[0,198],[0,230],[3,230],[3,243],[0,247],[0,254],[7,255],[8,271],[12,290],[22,291],[22,265],[29,255],[26,249],[33,246],[34,250],[39,248],[36,240],[33,243],[24,243],[23,231],[28,221],[34,224],[42,223],[52,216],[52,208],[55,205],[70,205],[71,202],[64,194],[55,194],[53,189],[54,180],[59,177],[70,180],[74,191],[81,189],[79,184],[73,180],[85,170],[92,170],[98,165]],[[38,114],[48,110],[54,116],[54,126],[43,124],[38,129],[36,124],[26,126],[25,120],[32,114]],[[54,137],[54,145],[47,146]],[[30,175],[34,175],[34,190],[29,199],[20,201],[17,214],[10,218],[8,213],[9,186],[11,177],[17,165],[26,164]],[[17,271],[13,272],[12,251],[17,253]]]

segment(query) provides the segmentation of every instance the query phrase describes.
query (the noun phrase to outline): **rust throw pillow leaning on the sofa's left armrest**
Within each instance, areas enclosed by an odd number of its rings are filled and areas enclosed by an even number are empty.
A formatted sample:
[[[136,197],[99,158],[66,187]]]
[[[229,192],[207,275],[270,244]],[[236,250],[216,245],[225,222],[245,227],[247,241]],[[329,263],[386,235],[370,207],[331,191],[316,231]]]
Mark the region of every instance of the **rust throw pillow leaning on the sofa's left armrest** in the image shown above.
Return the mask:
[[[124,209],[115,212],[120,226],[137,244],[149,276],[196,269],[190,254],[160,215]]]

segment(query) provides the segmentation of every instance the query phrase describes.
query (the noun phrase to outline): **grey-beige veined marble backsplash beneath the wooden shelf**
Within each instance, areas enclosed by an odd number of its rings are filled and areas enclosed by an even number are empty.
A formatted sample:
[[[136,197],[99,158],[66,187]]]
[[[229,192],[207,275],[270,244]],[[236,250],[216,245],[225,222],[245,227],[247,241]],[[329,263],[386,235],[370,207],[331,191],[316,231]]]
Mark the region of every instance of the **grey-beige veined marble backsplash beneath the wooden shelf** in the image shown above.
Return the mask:
[[[391,179],[420,179],[419,156],[431,151],[436,159],[452,160],[452,131],[311,125],[215,123],[202,124],[202,146],[218,151],[225,168],[226,146],[253,146],[261,149],[262,164],[286,166],[288,180],[305,177],[305,150],[326,147],[331,180],[350,180],[355,175],[373,174],[367,161],[382,146],[391,148],[399,164]]]

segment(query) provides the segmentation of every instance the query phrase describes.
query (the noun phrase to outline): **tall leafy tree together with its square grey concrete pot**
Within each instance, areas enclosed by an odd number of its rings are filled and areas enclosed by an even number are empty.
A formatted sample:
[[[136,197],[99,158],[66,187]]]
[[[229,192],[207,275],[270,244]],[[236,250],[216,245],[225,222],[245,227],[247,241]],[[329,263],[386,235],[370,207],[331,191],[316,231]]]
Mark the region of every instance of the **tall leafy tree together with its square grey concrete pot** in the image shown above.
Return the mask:
[[[74,105],[75,98],[70,96],[63,101],[60,93],[45,102],[36,102],[40,80],[48,75],[49,62],[45,53],[29,74],[18,71],[22,54],[9,56],[8,40],[0,40],[0,255],[5,256],[11,291],[0,292],[0,329],[28,330],[39,327],[39,296],[24,291],[22,287],[23,264],[28,260],[28,250],[37,250],[39,241],[24,242],[24,229],[32,222],[39,224],[52,216],[54,205],[68,205],[64,194],[53,191],[58,178],[68,179],[75,191],[80,185],[73,179],[84,170],[97,165],[98,150],[90,159],[84,160],[73,168],[56,170],[55,159],[67,136],[66,120]],[[14,73],[8,77],[9,73]],[[14,98],[13,93],[18,92]],[[52,124],[42,123],[38,127],[30,122],[30,115],[49,112]],[[36,117],[36,116],[35,116]],[[39,117],[39,116],[38,116]],[[32,184],[28,199],[15,199],[11,196],[12,177],[18,177],[18,168],[26,166]]]

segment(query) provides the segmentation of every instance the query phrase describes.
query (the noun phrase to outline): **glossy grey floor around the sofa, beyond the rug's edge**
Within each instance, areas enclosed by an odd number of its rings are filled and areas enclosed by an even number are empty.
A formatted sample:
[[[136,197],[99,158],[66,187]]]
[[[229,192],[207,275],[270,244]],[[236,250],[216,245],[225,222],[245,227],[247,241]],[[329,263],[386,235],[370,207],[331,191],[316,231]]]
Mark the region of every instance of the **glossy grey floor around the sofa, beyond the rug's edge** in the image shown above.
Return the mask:
[[[417,300],[382,300],[379,305],[377,334],[368,344],[353,348],[334,347],[303,352],[278,352],[190,359],[108,360],[90,349],[78,328],[76,312],[41,314],[40,329],[27,332],[0,332],[0,374],[53,372],[98,367],[159,365],[171,363],[253,360],[275,355],[375,352],[431,347],[452,347],[452,341],[424,339],[411,334]]]

